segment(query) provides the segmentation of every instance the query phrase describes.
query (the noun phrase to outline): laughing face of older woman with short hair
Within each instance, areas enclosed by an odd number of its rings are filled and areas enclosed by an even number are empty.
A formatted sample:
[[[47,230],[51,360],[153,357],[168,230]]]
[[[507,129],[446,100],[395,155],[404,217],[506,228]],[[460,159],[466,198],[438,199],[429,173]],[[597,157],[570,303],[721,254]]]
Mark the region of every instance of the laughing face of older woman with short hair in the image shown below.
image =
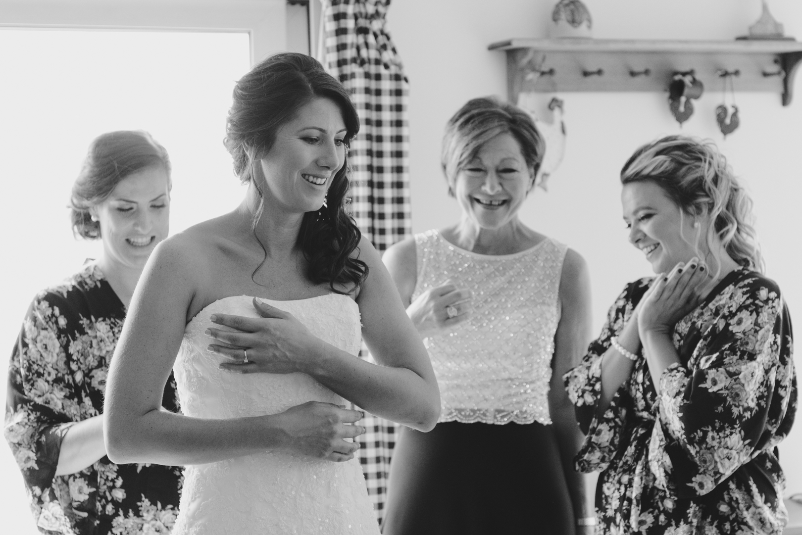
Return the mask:
[[[532,182],[520,144],[504,133],[483,144],[457,172],[454,195],[464,217],[482,229],[500,229],[515,219]]]

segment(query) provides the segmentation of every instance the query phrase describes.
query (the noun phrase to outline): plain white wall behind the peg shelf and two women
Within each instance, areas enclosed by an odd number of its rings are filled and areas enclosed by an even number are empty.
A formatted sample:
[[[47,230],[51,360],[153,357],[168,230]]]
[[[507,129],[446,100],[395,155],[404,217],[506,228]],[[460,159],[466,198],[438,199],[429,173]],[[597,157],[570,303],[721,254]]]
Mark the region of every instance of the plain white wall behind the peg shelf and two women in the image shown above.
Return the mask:
[[[444,124],[466,100],[506,95],[504,54],[489,43],[545,37],[556,0],[395,0],[387,15],[411,84],[411,197],[415,232],[456,221],[459,210],[439,171]],[[760,13],[759,0],[585,0],[597,38],[734,39]],[[802,2],[772,0],[785,33],[802,39]],[[802,85],[799,80],[797,87]],[[738,82],[735,80],[737,90]],[[768,276],[780,283],[793,314],[802,314],[796,268],[802,236],[802,94],[738,93],[741,127],[724,141],[715,124],[722,95],[708,87],[681,129],[662,93],[563,93],[568,148],[561,168],[521,210],[526,224],[569,244],[589,262],[594,330],[626,282],[650,274],[626,241],[618,172],[638,145],[670,133],[710,137],[743,177],[755,200]],[[802,318],[797,315],[796,318]],[[802,363],[797,357],[796,363]],[[802,416],[800,416],[802,419]],[[780,446],[788,493],[802,492],[802,423]]]

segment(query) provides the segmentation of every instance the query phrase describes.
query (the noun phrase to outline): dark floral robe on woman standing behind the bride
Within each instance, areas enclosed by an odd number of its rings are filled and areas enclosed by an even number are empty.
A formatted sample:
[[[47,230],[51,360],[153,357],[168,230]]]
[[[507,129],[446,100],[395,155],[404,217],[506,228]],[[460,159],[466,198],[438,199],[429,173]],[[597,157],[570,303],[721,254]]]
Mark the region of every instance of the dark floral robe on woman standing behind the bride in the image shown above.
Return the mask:
[[[61,442],[80,420],[103,412],[103,389],[125,306],[95,265],[40,292],[11,355],[6,440],[42,533],[169,533],[182,468],[114,464],[55,476]],[[172,375],[164,407],[177,411]]]

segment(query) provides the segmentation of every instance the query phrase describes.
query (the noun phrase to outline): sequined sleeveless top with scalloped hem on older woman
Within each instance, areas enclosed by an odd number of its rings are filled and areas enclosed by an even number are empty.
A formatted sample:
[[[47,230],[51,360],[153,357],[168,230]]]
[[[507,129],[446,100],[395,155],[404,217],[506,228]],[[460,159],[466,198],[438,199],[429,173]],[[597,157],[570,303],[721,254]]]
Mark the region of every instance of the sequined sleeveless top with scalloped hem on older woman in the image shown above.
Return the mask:
[[[439,421],[551,424],[551,360],[568,248],[546,238],[520,253],[478,254],[429,230],[415,235],[415,249],[413,301],[449,279],[473,292],[471,318],[423,340],[440,387]]]

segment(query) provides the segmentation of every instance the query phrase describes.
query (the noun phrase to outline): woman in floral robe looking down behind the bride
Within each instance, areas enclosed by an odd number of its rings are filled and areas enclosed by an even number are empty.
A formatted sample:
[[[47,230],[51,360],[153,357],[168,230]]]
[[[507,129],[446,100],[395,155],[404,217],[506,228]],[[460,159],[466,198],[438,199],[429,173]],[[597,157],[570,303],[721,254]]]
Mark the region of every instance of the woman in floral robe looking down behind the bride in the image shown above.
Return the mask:
[[[6,425],[42,533],[169,533],[182,469],[113,464],[103,389],[127,303],[168,231],[169,160],[144,132],[91,145],[73,188],[73,225],[103,255],[36,295],[10,359]],[[177,411],[175,384],[164,408]]]

